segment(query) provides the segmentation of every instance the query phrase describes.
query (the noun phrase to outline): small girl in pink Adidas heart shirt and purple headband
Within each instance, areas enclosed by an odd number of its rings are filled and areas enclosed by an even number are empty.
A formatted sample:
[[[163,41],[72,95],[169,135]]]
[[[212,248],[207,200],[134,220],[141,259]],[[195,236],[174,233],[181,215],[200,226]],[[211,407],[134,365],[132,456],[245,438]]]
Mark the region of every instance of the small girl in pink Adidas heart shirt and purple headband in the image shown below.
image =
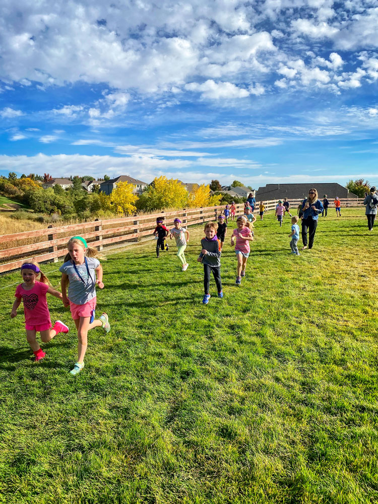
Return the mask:
[[[51,329],[46,294],[48,292],[60,299],[62,295],[49,286],[48,278],[39,269],[39,264],[34,261],[26,261],[21,265],[21,276],[23,283],[16,289],[16,300],[12,306],[11,318],[14,319],[17,316],[17,308],[23,301],[26,339],[35,355],[34,360],[37,362],[43,359],[46,354],[37,343],[36,334],[40,333],[43,343],[47,343],[58,333],[68,333],[69,328],[57,320]]]

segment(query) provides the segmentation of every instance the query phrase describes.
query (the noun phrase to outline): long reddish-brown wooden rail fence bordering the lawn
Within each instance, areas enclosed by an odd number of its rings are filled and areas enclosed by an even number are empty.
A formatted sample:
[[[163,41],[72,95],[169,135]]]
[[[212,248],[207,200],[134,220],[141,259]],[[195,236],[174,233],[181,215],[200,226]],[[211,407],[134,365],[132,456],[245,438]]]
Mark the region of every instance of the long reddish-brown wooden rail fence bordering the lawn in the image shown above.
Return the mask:
[[[291,208],[295,209],[302,200],[291,200]],[[361,199],[341,200],[341,207],[360,206]],[[258,213],[258,204],[255,213]],[[278,200],[264,202],[268,211],[274,210]],[[67,254],[68,238],[72,235],[83,236],[88,244],[99,250],[110,245],[125,245],[138,241],[144,236],[152,235],[156,226],[156,217],[164,215],[165,224],[173,225],[173,220],[179,217],[183,226],[201,224],[217,220],[225,205],[183,209],[174,212],[160,212],[150,215],[135,215],[132,217],[82,222],[68,226],[48,227],[26,231],[24,233],[0,235],[0,274],[20,268],[25,260],[41,262],[57,262]],[[243,213],[244,205],[236,205],[236,214]]]

